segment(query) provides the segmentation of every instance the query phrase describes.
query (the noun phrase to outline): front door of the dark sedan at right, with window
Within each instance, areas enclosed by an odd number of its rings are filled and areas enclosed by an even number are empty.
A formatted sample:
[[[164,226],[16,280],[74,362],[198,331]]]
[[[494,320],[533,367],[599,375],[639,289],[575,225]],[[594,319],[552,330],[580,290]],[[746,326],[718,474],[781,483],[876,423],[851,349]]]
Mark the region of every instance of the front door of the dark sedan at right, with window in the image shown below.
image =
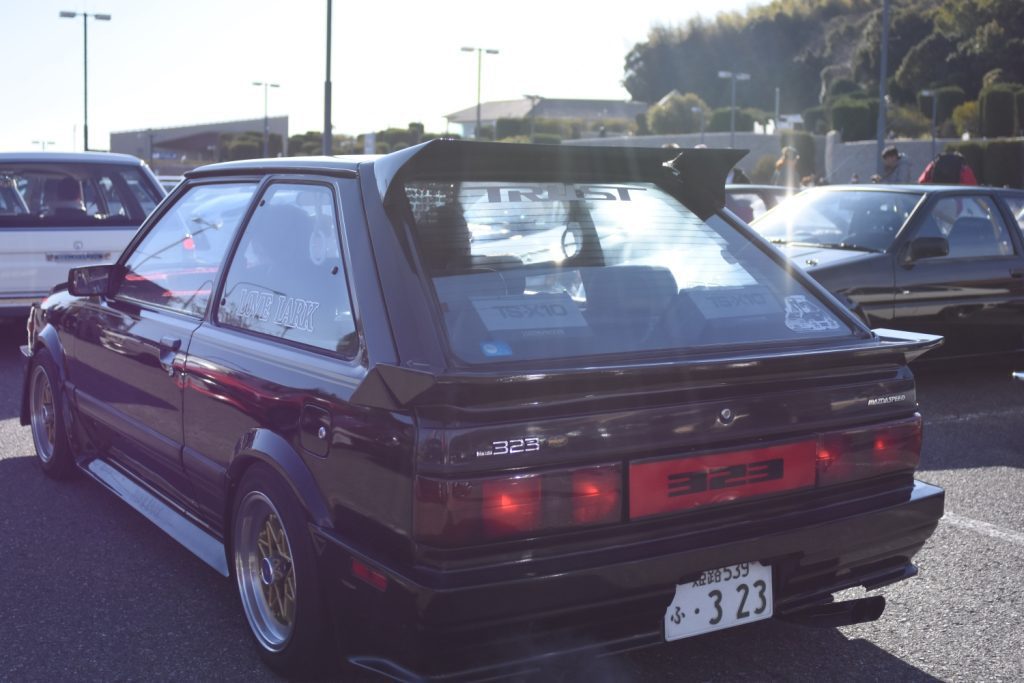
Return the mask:
[[[957,353],[1019,346],[1020,231],[1010,229],[992,196],[937,195],[922,208],[912,230],[909,240],[945,238],[949,253],[911,261],[902,252],[895,269],[894,327],[943,335],[946,349]]]

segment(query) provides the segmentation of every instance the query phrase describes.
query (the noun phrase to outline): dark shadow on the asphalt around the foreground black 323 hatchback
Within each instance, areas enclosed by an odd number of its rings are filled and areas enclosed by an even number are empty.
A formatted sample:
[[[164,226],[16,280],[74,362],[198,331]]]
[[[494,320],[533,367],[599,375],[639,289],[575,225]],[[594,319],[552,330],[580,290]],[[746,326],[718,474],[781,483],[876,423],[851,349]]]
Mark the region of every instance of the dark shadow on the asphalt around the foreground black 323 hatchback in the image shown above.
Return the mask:
[[[0,501],[0,671],[11,680],[280,680],[256,654],[231,583],[99,484],[53,481],[28,454],[8,455]],[[835,629],[774,621],[562,661],[536,680],[669,678],[933,680]]]

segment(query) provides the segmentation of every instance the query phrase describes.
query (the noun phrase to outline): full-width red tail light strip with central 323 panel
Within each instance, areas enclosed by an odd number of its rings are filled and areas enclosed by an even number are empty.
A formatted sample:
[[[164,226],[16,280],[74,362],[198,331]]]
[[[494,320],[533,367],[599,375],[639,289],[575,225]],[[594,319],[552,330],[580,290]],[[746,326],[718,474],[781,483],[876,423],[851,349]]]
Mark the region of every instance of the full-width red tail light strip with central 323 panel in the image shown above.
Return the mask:
[[[628,518],[909,473],[921,444],[922,419],[914,415],[758,449],[631,463]],[[622,522],[625,479],[617,463],[498,477],[418,476],[416,537],[459,546]]]

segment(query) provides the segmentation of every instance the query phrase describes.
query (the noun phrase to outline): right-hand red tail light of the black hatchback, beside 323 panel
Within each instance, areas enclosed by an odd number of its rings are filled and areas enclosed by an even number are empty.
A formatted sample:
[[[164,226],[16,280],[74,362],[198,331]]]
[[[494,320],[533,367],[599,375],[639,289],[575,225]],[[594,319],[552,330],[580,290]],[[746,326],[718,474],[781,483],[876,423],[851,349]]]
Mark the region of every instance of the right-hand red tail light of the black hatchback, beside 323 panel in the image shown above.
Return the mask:
[[[818,485],[913,471],[921,462],[920,415],[859,429],[823,434],[818,441]]]

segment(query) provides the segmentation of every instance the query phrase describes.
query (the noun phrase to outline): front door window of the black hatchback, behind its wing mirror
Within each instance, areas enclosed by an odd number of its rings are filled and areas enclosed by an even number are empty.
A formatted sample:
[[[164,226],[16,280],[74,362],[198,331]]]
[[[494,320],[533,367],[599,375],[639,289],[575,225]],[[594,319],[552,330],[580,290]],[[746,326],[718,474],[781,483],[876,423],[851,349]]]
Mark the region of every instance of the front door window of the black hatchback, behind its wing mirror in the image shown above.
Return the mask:
[[[193,187],[125,262],[118,295],[203,315],[255,183]]]

